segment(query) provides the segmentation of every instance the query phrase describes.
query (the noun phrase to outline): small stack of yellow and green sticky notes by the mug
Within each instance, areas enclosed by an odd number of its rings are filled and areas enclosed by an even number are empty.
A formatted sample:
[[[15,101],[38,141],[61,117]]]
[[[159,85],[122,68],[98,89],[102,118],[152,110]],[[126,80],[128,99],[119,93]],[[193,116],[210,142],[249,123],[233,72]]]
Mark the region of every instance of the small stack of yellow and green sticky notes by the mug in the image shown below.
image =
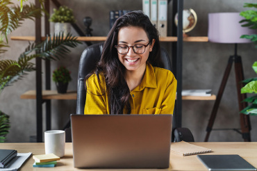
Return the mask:
[[[56,167],[57,161],[60,161],[60,157],[55,154],[33,155],[33,159],[33,168],[53,168]]]

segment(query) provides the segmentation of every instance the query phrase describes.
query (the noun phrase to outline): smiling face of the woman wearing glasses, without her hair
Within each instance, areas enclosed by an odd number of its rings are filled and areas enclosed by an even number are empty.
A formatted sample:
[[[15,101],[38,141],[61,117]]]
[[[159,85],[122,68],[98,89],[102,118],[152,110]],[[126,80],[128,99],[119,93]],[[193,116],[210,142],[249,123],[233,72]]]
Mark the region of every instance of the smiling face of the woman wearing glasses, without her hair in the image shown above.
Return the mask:
[[[149,43],[149,38],[144,29],[136,26],[126,26],[119,29],[117,45],[130,47],[127,54],[119,54],[119,61],[126,67],[127,71],[142,71],[144,72],[149,52],[153,50],[154,42],[145,47],[143,54],[135,54],[133,47],[135,44]],[[141,46],[142,47],[142,46]],[[144,47],[143,47],[144,48]]]

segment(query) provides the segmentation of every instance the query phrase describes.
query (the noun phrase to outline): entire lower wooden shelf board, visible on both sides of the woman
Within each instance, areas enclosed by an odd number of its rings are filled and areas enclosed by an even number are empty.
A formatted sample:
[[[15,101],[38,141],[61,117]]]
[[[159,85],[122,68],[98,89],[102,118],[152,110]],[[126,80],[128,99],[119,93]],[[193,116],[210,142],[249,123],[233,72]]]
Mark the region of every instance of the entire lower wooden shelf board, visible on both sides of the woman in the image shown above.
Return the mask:
[[[21,95],[21,99],[35,99],[35,90],[28,90]],[[60,94],[56,90],[43,90],[42,99],[76,99],[76,91],[67,91],[65,94]],[[182,96],[183,100],[215,100],[216,96]]]

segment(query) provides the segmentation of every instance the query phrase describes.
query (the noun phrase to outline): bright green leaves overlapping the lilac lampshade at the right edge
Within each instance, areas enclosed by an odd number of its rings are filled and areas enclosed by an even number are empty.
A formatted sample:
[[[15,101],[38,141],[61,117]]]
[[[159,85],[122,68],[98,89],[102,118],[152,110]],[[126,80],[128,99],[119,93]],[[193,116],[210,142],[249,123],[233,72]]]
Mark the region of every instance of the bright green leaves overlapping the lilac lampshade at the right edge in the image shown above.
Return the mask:
[[[257,8],[257,3],[244,3],[244,7]],[[249,29],[257,29],[257,10],[245,10],[240,13],[242,26],[247,26]],[[257,44],[257,34],[242,35],[240,38],[246,38]]]

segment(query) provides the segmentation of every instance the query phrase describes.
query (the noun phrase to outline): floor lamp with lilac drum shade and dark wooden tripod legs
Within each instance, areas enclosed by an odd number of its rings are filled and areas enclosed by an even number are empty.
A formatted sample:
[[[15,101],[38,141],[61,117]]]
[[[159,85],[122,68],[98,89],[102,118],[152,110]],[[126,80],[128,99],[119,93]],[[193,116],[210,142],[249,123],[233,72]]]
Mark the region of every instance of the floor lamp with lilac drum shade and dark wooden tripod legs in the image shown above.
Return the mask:
[[[226,65],[226,70],[223,75],[222,83],[219,86],[219,91],[217,93],[217,98],[213,106],[213,111],[210,115],[208,121],[208,126],[206,128],[206,138],[205,141],[208,141],[210,136],[210,131],[213,130],[213,124],[215,117],[217,115],[217,110],[219,108],[219,103],[222,99],[224,88],[226,82],[229,78],[229,73],[231,72],[231,67],[233,63],[235,64],[235,80],[238,92],[238,106],[239,111],[242,111],[243,108],[247,106],[247,103],[242,103],[241,101],[246,98],[245,94],[241,94],[240,89],[243,87],[242,80],[244,80],[244,74],[242,70],[242,60],[241,56],[238,56],[238,43],[249,43],[250,40],[240,38],[241,35],[250,35],[255,33],[254,30],[248,29],[247,27],[242,27],[239,23],[243,17],[239,13],[209,13],[208,14],[208,40],[210,42],[216,43],[233,43],[235,44],[235,51],[233,56],[229,56],[228,64]],[[240,127],[242,133],[242,138],[244,141],[251,141],[250,136],[250,121],[249,115],[244,115],[240,113]]]

